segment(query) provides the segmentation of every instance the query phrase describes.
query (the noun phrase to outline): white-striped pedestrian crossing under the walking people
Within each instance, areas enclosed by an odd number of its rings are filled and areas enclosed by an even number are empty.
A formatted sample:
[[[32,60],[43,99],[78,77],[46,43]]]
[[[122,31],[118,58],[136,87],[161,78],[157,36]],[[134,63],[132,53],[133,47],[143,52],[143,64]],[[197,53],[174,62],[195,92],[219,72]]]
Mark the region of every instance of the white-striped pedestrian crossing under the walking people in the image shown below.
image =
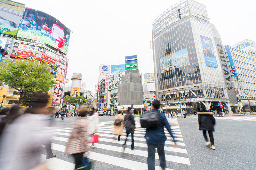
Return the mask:
[[[190,161],[188,153],[185,149],[180,127],[176,118],[167,118],[172,129],[172,133],[177,140],[178,148],[174,147],[174,142],[167,129],[165,129],[167,140],[165,142],[166,170],[170,169],[188,169]],[[112,134],[114,120],[99,123],[98,135],[100,142],[94,145],[89,152],[88,158],[93,160],[93,169],[138,169],[146,170],[147,166],[147,144],[144,138],[145,129],[140,127],[139,117],[135,117],[136,129],[134,132],[134,147],[131,151],[131,135],[126,142],[126,148],[122,155],[122,145],[126,138],[124,130],[121,136],[121,141],[117,142],[116,135]],[[52,136],[52,150],[57,154],[56,158],[49,159],[49,168],[57,169],[74,169],[73,157],[64,155],[65,145],[72,131],[72,127],[55,129]],[[46,155],[42,154],[42,160],[45,160]],[[159,157],[156,153],[156,169],[161,169],[159,166]]]

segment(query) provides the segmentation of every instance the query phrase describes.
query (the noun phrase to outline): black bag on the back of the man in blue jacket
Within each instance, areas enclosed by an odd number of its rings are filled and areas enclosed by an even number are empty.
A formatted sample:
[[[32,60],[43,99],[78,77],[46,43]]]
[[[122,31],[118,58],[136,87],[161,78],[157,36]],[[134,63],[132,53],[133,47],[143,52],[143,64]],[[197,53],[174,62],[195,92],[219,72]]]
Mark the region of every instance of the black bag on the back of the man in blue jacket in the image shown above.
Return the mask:
[[[159,125],[158,112],[151,110],[140,116],[140,126],[142,128],[151,128]]]

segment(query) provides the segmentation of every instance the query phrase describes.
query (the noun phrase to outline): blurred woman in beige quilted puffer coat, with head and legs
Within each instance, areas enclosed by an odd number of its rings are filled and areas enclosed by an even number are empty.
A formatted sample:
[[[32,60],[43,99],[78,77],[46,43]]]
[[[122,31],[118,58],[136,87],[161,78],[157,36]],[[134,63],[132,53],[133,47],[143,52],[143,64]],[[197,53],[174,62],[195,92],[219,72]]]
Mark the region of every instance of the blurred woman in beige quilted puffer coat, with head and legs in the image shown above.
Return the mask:
[[[81,165],[84,152],[89,150],[88,146],[88,125],[86,119],[88,107],[82,106],[78,110],[81,117],[77,118],[73,123],[73,130],[66,144],[65,154],[72,154],[75,158],[76,166]]]

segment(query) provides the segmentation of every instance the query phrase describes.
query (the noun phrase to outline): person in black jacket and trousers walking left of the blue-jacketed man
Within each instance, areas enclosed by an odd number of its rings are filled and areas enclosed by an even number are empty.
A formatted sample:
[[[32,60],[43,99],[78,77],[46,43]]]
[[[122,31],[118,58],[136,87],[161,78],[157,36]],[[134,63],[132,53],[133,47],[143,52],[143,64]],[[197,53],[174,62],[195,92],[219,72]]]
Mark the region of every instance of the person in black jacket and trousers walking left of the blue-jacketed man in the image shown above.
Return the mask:
[[[133,133],[134,133],[134,130],[135,130],[135,121],[134,121],[134,117],[132,115],[132,108],[131,107],[128,107],[127,114],[124,116],[124,127],[125,127],[125,130],[126,130],[126,139],[125,139],[124,145],[123,145],[123,152],[124,152],[124,149],[125,149],[125,144],[126,144],[128,135],[130,133],[131,133],[131,136],[132,136],[131,150],[133,151],[135,149],[134,148],[134,139],[133,139]]]

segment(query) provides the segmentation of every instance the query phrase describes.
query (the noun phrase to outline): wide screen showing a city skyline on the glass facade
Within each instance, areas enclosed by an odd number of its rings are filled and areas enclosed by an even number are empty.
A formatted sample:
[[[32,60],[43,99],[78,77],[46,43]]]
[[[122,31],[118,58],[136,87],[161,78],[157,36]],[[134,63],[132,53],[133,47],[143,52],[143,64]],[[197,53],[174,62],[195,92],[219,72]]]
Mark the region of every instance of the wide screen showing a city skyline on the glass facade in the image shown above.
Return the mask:
[[[187,48],[173,52],[160,59],[161,73],[189,64]]]

